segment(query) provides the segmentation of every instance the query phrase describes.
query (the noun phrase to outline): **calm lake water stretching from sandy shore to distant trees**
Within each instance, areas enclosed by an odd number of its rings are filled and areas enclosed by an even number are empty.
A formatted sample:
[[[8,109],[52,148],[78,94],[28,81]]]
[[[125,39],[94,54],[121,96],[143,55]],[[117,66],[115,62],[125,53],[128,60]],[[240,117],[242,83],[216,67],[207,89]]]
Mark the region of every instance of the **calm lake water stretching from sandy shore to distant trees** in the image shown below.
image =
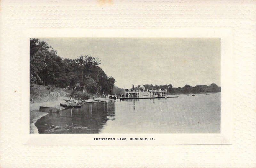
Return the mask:
[[[220,133],[221,93],[100,102],[49,113],[39,133]],[[87,127],[49,131],[50,125]]]

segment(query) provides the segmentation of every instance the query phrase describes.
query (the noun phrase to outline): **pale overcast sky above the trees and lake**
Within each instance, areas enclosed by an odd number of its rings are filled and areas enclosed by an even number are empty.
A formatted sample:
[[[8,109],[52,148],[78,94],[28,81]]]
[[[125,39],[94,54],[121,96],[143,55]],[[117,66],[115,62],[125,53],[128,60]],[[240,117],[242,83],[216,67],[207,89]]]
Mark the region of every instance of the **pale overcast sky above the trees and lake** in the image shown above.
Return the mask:
[[[220,84],[220,39],[39,39],[63,58],[89,55],[101,60],[120,88],[132,84]]]

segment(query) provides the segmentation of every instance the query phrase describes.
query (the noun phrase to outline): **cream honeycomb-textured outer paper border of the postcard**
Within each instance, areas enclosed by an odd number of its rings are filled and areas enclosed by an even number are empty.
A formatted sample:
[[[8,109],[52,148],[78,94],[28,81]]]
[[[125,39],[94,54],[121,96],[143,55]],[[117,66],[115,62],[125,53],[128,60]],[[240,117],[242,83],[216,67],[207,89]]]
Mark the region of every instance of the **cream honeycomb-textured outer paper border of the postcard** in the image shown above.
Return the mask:
[[[7,1],[0,6],[0,164],[6,167],[256,167],[255,1]],[[24,35],[32,29],[227,29],[229,145],[25,145]],[[184,31],[185,31],[184,30]],[[81,35],[81,34],[80,34]],[[108,34],[106,33],[105,37]],[[46,37],[43,34],[43,37]],[[26,49],[26,48],[25,48]],[[229,63],[230,63],[229,62]],[[227,78],[228,78],[227,77]],[[27,120],[28,121],[28,120]],[[25,133],[26,134],[26,133]]]

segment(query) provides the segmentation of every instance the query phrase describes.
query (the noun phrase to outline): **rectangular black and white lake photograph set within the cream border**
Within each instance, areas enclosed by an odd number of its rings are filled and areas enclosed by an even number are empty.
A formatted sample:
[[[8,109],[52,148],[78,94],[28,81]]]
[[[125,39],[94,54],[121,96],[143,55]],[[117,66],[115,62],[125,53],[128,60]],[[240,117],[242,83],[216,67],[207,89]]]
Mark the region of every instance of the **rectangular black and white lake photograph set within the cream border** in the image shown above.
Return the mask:
[[[221,39],[30,38],[30,133],[221,133]]]

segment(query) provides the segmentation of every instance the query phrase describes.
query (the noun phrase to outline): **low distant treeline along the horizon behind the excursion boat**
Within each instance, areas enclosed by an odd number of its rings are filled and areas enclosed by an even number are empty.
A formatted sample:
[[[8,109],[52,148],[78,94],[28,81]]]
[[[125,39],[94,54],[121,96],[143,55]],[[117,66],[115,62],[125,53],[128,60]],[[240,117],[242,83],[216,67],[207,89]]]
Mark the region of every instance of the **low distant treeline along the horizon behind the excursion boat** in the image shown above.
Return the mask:
[[[207,93],[207,92],[220,92],[221,87],[219,87],[217,84],[210,84],[207,85],[196,85],[196,86],[190,86],[186,84],[184,87],[173,87],[172,84],[165,84],[165,85],[153,85],[153,84],[145,84],[143,85],[145,87],[145,90],[152,90],[152,89],[166,89],[167,93],[176,93],[176,94],[188,94],[188,93]],[[140,85],[134,88],[134,90],[139,90]],[[130,88],[132,89],[132,88]],[[124,93],[124,89],[114,87],[113,92],[116,94]]]

